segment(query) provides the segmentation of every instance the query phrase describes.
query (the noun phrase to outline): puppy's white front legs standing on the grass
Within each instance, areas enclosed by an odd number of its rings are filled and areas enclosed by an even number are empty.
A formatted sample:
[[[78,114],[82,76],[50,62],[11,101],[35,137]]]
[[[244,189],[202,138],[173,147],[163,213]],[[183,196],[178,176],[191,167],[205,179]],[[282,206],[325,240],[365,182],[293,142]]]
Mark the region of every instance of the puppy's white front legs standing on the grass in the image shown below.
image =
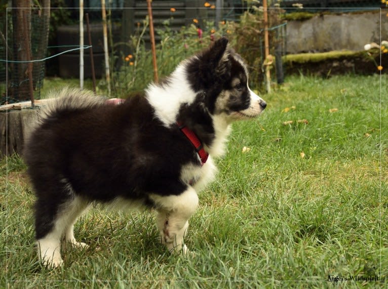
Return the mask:
[[[198,195],[195,189],[188,187],[180,195],[152,196],[158,208],[157,224],[170,252],[188,253],[184,237],[188,229],[188,219],[198,207]]]

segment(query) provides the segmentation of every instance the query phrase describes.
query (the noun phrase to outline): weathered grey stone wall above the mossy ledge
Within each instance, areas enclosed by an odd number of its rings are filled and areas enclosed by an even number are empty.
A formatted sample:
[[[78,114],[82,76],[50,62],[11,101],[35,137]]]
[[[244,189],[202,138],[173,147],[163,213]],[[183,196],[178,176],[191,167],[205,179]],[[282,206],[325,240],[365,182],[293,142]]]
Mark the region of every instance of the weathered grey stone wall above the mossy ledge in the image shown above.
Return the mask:
[[[322,14],[287,23],[287,53],[361,51],[367,43],[388,40],[388,10]],[[380,21],[381,14],[381,21]]]

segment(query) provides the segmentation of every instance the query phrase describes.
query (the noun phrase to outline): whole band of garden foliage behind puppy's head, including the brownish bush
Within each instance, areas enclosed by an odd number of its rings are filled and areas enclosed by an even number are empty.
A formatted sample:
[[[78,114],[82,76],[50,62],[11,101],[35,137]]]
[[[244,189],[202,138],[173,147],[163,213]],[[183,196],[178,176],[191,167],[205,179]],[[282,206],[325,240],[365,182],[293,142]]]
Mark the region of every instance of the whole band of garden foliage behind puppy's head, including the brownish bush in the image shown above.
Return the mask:
[[[275,27],[283,23],[283,10],[268,9],[268,27]],[[198,21],[197,21],[198,22]],[[196,19],[193,24],[173,31],[169,21],[164,28],[157,30],[161,36],[161,43],[157,45],[157,61],[159,75],[169,75],[176,65],[185,58],[208,47],[218,37],[226,35],[242,57],[249,64],[251,77],[250,85],[260,87],[263,83],[262,65],[264,61],[264,20],[261,7],[252,6],[245,12],[239,22],[222,21],[215,27],[214,22],[205,21],[201,31]],[[120,71],[115,72],[113,84],[116,95],[128,95],[131,92],[142,91],[152,81],[151,51],[146,49],[144,33],[148,27],[148,19],[138,23],[137,31],[128,44],[133,51],[130,55],[122,55],[124,61]],[[277,29],[269,31],[270,53],[274,54],[275,47],[282,41],[277,35]],[[121,45],[121,44],[120,44]],[[100,87],[105,85],[104,80]]]

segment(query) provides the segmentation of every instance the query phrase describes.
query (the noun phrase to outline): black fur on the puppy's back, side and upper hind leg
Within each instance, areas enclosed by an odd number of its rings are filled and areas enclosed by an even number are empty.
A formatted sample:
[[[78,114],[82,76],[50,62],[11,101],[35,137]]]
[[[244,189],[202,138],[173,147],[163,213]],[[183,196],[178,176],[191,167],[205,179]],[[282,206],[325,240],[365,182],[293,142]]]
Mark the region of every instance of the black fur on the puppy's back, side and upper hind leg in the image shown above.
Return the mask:
[[[117,106],[57,111],[33,133],[24,157],[37,196],[37,239],[72,197],[63,180],[90,201],[122,196],[152,205],[150,192],[186,189],[179,180],[182,164],[200,165],[187,138],[177,127],[164,127],[139,96]]]

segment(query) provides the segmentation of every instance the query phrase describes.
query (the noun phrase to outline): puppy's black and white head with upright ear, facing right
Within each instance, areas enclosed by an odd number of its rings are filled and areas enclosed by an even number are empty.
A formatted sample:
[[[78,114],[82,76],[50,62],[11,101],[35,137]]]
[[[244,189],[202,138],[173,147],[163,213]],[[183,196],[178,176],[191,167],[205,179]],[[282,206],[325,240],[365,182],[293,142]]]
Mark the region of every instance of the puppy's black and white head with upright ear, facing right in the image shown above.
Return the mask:
[[[227,44],[222,37],[187,62],[191,89],[200,93],[211,115],[224,115],[228,121],[255,117],[266,103],[249,89],[247,66]]]

